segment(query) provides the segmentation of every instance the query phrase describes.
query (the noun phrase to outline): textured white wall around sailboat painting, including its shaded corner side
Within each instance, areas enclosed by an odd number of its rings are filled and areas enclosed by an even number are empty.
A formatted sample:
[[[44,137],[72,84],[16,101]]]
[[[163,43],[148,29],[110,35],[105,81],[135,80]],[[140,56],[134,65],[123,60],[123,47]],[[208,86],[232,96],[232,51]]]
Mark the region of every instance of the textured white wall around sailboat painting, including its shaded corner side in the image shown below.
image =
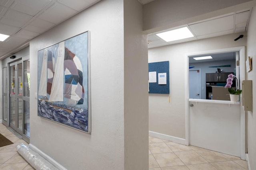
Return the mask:
[[[102,0],[33,39],[31,96],[37,92],[37,51],[87,30],[92,134],[38,117],[37,100],[31,98],[30,142],[70,170],[146,170],[147,36],[137,0]]]

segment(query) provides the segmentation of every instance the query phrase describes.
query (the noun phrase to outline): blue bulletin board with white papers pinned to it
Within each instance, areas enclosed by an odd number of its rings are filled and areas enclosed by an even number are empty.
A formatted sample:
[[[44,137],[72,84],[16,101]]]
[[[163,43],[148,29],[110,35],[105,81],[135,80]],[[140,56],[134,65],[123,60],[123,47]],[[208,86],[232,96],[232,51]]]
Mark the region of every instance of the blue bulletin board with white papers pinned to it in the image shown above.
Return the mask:
[[[149,92],[158,94],[170,94],[170,83],[169,83],[169,61],[162,61],[156,63],[148,63],[149,80],[150,73],[155,74],[156,82],[149,81]],[[162,78],[166,76],[166,82],[162,83]],[[159,80],[159,78],[161,80]]]

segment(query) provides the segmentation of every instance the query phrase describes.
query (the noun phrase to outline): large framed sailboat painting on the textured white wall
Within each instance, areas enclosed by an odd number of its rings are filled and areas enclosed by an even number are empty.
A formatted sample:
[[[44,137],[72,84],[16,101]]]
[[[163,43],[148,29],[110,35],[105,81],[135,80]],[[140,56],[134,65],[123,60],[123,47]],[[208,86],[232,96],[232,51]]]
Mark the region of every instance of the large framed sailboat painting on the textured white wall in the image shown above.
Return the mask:
[[[38,116],[90,133],[88,32],[38,51]]]

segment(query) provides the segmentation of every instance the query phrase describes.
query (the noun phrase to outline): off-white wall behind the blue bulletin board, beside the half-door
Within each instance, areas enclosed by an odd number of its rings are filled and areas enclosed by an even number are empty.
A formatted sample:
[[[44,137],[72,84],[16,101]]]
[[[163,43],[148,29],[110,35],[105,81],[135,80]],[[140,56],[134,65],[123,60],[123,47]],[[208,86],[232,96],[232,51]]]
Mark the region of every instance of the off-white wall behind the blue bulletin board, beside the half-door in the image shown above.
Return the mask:
[[[184,57],[188,53],[245,46],[246,34],[239,41],[234,41],[239,35],[148,49],[148,63],[170,61],[170,103],[169,95],[149,94],[150,131],[185,139]]]

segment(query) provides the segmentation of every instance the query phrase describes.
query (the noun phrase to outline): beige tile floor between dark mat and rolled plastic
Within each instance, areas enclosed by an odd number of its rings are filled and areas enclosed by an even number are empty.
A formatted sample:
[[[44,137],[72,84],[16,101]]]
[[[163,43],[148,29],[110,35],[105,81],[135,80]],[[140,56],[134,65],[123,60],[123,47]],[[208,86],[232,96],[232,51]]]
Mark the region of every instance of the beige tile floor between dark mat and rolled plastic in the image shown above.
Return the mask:
[[[16,137],[2,123],[0,123],[0,133],[14,143],[0,147],[0,170],[34,170],[16,150],[16,146],[20,143],[25,145],[28,143]]]

